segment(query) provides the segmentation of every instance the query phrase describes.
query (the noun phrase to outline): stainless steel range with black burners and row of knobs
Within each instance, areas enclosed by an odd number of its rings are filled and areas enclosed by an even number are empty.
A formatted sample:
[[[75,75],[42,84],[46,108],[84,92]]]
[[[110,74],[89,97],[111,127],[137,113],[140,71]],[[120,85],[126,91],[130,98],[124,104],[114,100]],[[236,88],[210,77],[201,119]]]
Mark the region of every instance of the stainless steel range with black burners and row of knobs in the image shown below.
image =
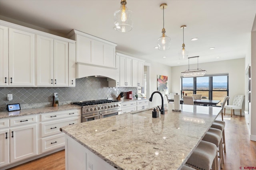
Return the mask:
[[[118,115],[121,111],[120,103],[118,100],[102,99],[72,102],[71,104],[82,107],[82,122],[86,122]]]

